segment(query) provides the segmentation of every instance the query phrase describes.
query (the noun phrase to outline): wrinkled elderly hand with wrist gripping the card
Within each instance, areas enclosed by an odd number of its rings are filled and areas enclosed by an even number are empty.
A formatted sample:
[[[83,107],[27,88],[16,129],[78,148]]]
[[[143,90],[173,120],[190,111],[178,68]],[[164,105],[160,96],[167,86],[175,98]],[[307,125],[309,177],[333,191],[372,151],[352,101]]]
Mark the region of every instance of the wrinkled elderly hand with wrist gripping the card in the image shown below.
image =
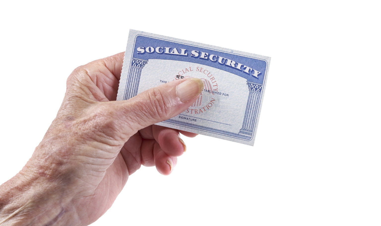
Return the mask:
[[[189,107],[203,83],[181,79],[113,101],[123,56],[93,61],[69,76],[42,142],[20,173],[0,187],[0,223],[88,225],[141,165],[171,172],[186,146],[179,131],[153,124]]]

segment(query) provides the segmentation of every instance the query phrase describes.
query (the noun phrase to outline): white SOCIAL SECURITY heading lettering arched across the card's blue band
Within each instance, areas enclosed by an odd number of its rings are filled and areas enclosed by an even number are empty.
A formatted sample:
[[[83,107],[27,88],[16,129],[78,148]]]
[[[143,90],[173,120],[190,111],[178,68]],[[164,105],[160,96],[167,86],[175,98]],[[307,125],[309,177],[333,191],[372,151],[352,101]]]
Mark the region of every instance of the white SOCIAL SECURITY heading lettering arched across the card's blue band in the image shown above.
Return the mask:
[[[136,48],[136,51],[138,54],[145,54],[145,53],[158,53],[158,54],[172,54],[172,55],[179,55],[179,56],[188,56],[188,50],[187,49],[176,49],[171,47],[138,47]],[[240,64],[238,62],[235,62],[234,60],[227,59],[225,57],[216,56],[214,54],[209,54],[197,50],[191,51],[191,56],[194,58],[200,58],[204,60],[210,60],[211,62],[218,62],[219,64],[224,64],[228,67],[232,67],[238,70],[241,70],[242,72],[245,72],[249,75],[252,75],[253,77],[258,78],[258,75],[261,74],[261,72],[258,72],[257,70],[248,67],[247,65]]]

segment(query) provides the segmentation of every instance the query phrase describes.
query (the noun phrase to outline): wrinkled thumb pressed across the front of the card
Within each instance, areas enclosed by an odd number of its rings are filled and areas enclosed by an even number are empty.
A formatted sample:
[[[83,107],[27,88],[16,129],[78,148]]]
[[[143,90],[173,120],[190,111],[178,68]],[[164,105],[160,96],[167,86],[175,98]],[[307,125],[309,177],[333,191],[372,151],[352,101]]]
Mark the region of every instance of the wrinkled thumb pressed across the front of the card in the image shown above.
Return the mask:
[[[144,91],[129,100],[115,101],[111,116],[116,129],[130,137],[140,129],[170,119],[191,106],[203,87],[199,78],[180,79]]]

